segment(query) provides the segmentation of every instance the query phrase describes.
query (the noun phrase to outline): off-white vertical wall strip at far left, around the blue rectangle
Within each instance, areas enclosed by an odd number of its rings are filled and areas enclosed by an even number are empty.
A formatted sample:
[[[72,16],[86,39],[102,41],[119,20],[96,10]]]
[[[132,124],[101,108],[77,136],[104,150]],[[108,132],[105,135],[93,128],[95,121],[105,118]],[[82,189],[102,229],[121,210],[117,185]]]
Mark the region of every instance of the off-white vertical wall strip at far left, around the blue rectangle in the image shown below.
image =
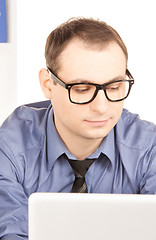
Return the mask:
[[[0,43],[0,123],[17,104],[17,4],[6,1],[8,43]]]

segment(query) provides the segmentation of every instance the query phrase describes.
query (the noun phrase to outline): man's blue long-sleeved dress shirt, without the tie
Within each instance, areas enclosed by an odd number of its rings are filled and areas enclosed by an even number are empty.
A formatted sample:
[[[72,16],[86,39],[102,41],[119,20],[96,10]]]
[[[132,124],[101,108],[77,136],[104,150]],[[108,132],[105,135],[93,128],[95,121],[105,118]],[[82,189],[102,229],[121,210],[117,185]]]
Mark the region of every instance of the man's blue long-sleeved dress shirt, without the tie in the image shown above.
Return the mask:
[[[49,101],[17,108],[0,128],[0,239],[27,239],[28,197],[71,192],[76,159],[60,139]],[[89,193],[156,193],[156,126],[123,110],[88,158]]]

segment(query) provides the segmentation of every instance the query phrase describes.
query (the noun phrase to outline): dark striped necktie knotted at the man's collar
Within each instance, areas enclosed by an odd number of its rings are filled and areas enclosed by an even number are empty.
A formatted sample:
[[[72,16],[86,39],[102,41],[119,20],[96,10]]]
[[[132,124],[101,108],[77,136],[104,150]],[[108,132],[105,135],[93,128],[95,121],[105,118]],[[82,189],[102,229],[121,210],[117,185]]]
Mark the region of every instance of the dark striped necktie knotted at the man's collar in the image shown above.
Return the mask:
[[[86,159],[86,160],[70,160],[70,163],[73,172],[75,174],[75,181],[73,183],[72,192],[75,193],[87,193],[87,184],[85,181],[85,175],[88,171],[91,164],[94,162],[95,159]]]

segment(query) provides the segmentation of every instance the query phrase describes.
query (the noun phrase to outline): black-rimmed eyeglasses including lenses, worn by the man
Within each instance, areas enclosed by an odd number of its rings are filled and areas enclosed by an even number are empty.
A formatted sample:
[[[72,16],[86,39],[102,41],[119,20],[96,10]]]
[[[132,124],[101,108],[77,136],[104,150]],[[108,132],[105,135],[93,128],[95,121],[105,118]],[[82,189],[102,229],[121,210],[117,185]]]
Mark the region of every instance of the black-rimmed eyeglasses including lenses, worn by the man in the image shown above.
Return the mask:
[[[99,90],[103,90],[106,98],[111,102],[119,102],[126,99],[130,93],[131,87],[134,84],[134,79],[126,70],[127,80],[116,80],[105,84],[94,83],[71,83],[66,84],[48,68],[52,80],[60,84],[68,90],[69,100],[74,104],[87,104],[92,102],[98,94]]]

